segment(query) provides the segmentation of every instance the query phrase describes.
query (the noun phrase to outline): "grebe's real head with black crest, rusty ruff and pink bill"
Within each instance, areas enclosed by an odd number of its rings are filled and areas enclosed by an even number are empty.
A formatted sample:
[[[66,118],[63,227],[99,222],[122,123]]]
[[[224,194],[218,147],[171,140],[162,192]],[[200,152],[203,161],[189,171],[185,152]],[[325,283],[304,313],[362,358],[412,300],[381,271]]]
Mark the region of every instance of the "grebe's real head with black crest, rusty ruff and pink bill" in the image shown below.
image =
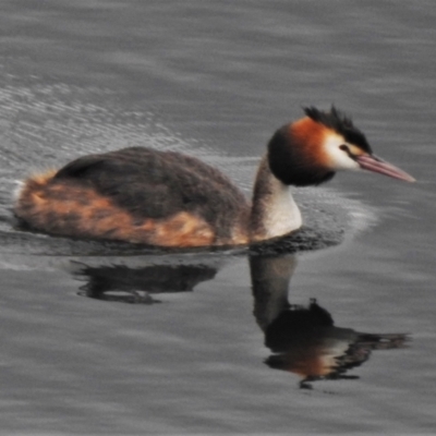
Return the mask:
[[[305,108],[306,117],[279,129],[268,144],[271,172],[284,184],[306,186],[330,180],[337,171],[379,172],[413,182],[399,168],[374,156],[365,135],[335,107]]]

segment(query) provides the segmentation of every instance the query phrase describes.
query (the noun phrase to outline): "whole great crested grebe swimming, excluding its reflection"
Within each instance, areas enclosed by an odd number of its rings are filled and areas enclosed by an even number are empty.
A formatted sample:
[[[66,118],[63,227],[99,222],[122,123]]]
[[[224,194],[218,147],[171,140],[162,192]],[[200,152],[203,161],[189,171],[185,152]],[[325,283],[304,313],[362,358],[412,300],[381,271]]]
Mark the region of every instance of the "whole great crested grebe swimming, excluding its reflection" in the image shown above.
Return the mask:
[[[375,157],[364,134],[335,107],[304,112],[269,141],[252,203],[194,157],[131,147],[31,177],[14,213],[32,229],[58,235],[172,247],[240,245],[301,227],[290,185],[317,185],[336,171],[359,169],[414,181]]]

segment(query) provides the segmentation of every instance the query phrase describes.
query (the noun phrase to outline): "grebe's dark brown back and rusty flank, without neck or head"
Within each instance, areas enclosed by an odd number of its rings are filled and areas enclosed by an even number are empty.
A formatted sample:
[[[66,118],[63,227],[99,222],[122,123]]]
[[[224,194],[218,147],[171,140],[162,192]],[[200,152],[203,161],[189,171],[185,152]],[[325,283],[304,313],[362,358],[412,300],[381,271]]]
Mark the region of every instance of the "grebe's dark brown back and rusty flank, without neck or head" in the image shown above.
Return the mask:
[[[174,173],[179,165],[189,172]],[[59,235],[162,246],[247,242],[249,206],[227,178],[191,157],[146,148],[86,156],[31,177],[14,210],[35,230]]]

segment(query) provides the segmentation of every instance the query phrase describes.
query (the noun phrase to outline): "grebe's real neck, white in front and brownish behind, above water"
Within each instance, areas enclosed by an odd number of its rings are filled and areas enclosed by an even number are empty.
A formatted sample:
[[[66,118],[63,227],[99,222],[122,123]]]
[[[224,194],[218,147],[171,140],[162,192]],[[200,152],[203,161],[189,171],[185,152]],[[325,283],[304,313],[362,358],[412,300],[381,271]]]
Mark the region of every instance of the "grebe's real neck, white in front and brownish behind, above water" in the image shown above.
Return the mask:
[[[271,172],[265,156],[257,170],[250,217],[250,239],[263,241],[281,237],[302,225],[302,218],[290,186]]]

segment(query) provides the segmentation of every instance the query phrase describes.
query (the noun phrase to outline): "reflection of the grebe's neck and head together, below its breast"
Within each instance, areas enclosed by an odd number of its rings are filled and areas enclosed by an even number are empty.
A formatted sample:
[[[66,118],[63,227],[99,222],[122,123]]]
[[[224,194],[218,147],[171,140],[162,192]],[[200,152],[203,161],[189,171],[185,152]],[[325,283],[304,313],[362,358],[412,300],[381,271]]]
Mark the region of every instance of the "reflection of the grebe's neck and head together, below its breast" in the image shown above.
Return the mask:
[[[331,315],[315,299],[308,306],[288,301],[295,257],[252,256],[250,258],[254,315],[272,354],[266,364],[301,377],[300,386],[311,388],[319,379],[359,378],[347,372],[368,360],[372,350],[404,347],[403,334],[364,334],[336,327]]]

